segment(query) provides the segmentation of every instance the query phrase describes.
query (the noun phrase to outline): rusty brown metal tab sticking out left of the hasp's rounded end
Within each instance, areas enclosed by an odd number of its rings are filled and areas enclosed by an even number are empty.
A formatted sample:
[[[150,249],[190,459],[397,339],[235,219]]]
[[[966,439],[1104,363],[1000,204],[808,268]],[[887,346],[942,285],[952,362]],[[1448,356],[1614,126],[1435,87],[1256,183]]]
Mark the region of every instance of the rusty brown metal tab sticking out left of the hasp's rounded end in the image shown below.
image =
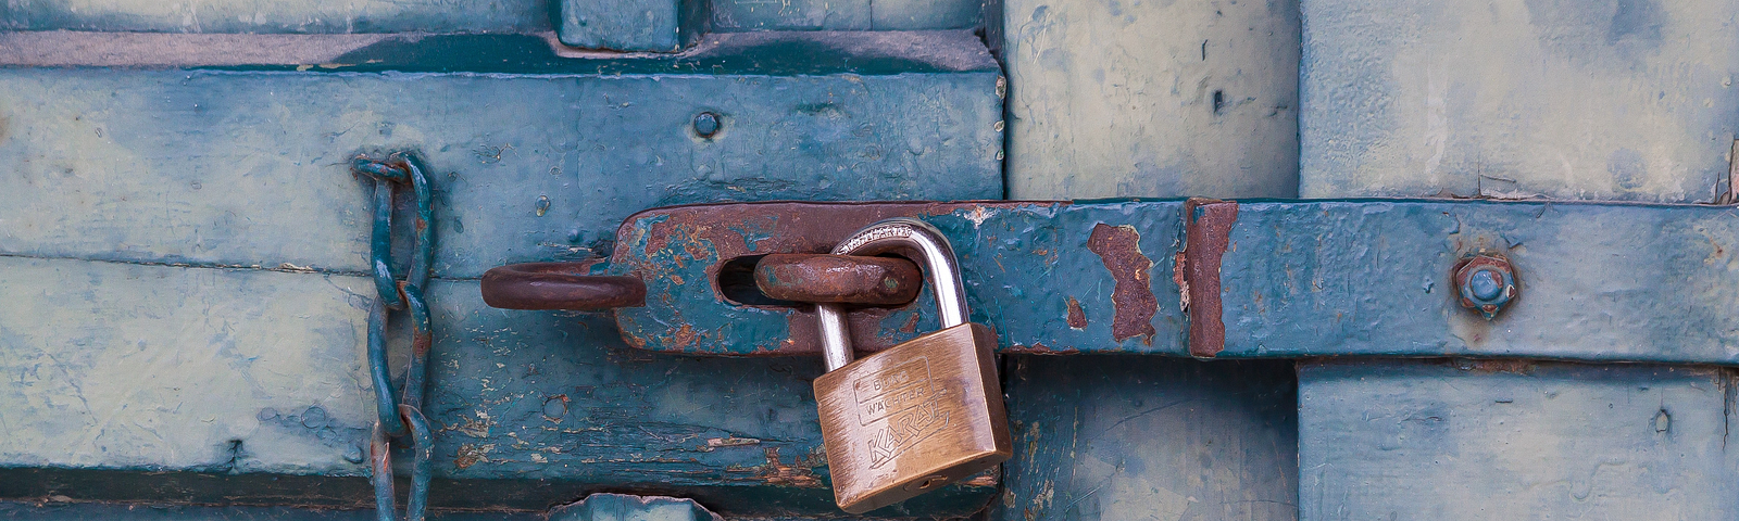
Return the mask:
[[[529,262],[483,273],[483,304],[501,309],[640,307],[647,285],[633,276],[586,274],[595,262]]]

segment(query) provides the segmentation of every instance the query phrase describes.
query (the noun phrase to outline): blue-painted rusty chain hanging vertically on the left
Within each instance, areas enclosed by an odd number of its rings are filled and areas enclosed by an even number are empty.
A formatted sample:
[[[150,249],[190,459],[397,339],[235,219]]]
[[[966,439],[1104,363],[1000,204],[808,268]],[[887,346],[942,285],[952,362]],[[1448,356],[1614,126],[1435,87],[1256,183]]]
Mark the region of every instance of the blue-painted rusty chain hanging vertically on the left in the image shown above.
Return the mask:
[[[393,460],[391,439],[407,443],[412,452],[410,498],[405,519],[423,521],[430,495],[430,471],[435,457],[433,432],[423,417],[424,380],[433,337],[430,311],[423,288],[430,278],[430,257],[435,252],[430,222],[430,186],[417,158],[393,153],[384,160],[356,156],[351,170],[374,179],[374,233],[369,240],[369,264],[379,299],[369,307],[369,372],[374,380],[376,415],[374,434],[369,439],[369,457],[374,481],[374,507],[381,521],[393,521]],[[416,231],[410,238],[410,273],[398,280],[393,274],[393,193],[409,186],[416,196]],[[391,375],[386,370],[386,314],[388,309],[410,311],[410,365],[405,368],[402,398],[393,398]],[[407,439],[409,438],[409,439]]]

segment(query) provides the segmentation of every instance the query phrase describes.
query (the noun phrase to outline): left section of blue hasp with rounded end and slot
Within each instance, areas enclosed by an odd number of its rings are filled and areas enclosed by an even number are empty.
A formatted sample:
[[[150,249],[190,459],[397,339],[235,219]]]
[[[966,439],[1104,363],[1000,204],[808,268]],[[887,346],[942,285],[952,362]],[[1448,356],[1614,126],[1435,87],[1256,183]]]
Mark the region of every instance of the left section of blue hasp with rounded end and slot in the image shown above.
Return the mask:
[[[786,346],[793,337],[814,339],[812,311],[727,300],[715,290],[716,264],[826,252],[861,226],[909,215],[953,243],[970,320],[991,325],[1005,351],[1184,349],[1172,280],[1179,201],[845,205],[807,215],[798,207],[671,208],[624,224],[610,271],[642,276],[649,304],[617,311],[623,333],[636,347],[670,353],[819,353],[819,346]],[[1104,254],[1089,250],[1096,229],[1120,226],[1129,229],[1123,240],[1109,241]],[[1120,266],[1123,280],[1108,264]],[[878,351],[936,330],[934,307],[923,290],[908,306],[857,313],[854,346]]]

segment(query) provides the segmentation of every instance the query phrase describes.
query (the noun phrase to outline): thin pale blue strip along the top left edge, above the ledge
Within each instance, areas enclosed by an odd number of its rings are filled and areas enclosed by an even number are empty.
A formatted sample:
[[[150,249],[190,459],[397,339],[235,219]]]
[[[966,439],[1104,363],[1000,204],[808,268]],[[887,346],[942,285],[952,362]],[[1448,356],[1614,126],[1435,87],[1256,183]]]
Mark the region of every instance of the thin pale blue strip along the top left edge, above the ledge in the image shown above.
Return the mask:
[[[163,33],[529,33],[548,0],[9,0],[0,30]]]

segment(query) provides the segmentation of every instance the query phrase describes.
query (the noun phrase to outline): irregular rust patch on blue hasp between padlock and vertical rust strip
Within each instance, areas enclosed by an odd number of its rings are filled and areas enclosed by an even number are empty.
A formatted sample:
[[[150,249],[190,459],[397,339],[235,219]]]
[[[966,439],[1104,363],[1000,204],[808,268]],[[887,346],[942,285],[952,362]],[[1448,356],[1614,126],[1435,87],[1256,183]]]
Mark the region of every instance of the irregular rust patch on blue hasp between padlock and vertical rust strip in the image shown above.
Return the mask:
[[[1153,346],[1153,314],[1160,311],[1160,300],[1153,297],[1148,276],[1153,260],[1141,254],[1141,233],[1134,226],[1099,222],[1087,238],[1087,250],[1104,260],[1104,269],[1116,281],[1111,288],[1111,339],[1143,337],[1143,344]]]

